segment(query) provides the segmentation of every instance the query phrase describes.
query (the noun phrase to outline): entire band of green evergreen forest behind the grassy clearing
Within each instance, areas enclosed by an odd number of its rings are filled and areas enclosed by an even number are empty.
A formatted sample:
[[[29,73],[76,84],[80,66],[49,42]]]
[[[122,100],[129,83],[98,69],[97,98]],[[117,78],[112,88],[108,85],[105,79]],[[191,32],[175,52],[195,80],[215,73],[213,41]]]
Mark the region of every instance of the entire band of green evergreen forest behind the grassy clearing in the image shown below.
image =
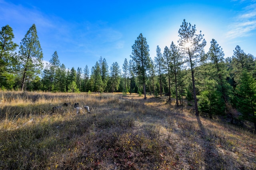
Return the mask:
[[[43,53],[36,25],[32,25],[20,45],[12,41],[9,25],[0,31],[0,88],[47,92],[122,92],[139,95],[168,95],[176,106],[183,99],[193,100],[195,113],[207,113],[254,123],[256,129],[256,61],[240,46],[234,55],[224,58],[215,39],[204,51],[204,35],[196,33],[196,26],[182,22],[179,41],[164,49],[156,47],[156,57],[149,57],[149,46],[142,33],[132,45],[130,59],[108,65],[99,57],[95,66],[67,69],[60,64],[55,51],[43,67]],[[15,52],[19,48],[18,53]]]

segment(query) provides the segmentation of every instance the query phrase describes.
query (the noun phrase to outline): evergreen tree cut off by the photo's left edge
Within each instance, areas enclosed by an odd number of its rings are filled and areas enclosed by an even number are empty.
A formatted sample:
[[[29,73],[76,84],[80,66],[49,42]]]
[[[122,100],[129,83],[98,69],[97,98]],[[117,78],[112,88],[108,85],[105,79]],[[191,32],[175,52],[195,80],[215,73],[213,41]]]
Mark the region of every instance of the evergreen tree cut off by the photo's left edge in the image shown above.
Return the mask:
[[[14,75],[11,70],[17,64],[16,54],[12,53],[18,45],[12,41],[14,34],[9,25],[2,27],[0,31],[0,88],[12,88]]]

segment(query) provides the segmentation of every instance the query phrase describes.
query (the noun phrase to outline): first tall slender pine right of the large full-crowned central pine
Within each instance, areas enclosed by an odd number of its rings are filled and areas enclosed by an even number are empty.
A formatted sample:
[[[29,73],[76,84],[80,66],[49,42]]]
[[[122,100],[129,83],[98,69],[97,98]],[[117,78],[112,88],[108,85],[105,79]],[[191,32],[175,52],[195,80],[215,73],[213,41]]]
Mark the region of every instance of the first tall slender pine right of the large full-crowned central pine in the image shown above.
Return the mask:
[[[158,72],[159,84],[160,84],[160,96],[162,96],[162,74],[164,70],[164,58],[161,53],[161,49],[159,46],[156,47],[156,57],[154,59],[156,64],[156,70]]]

